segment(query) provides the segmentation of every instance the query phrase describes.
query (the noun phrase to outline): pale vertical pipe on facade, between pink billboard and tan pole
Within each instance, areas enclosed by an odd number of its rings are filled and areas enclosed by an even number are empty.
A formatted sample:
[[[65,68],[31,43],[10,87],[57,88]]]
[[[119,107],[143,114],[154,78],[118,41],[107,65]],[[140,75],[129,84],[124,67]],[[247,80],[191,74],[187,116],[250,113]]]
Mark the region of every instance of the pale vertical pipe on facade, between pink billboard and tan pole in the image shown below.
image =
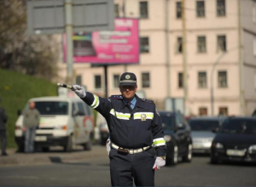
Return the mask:
[[[166,79],[167,79],[167,98],[171,95],[170,77],[170,36],[169,36],[169,0],[166,0]]]

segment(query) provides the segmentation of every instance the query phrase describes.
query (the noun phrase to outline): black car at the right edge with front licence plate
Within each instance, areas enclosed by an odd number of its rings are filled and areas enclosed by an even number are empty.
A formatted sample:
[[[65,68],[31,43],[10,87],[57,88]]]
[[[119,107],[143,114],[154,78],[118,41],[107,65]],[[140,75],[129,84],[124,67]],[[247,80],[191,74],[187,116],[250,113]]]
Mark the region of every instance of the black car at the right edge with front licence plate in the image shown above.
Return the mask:
[[[256,118],[227,118],[212,141],[211,162],[256,161]]]

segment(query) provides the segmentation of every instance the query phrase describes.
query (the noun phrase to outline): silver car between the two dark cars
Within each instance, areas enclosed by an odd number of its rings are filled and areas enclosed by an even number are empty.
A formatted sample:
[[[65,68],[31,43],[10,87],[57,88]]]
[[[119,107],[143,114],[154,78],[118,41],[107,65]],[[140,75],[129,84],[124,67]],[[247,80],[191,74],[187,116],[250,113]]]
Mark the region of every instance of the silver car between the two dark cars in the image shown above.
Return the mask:
[[[215,137],[212,130],[217,130],[223,121],[224,117],[195,117],[189,119],[193,153],[210,153],[212,139]]]

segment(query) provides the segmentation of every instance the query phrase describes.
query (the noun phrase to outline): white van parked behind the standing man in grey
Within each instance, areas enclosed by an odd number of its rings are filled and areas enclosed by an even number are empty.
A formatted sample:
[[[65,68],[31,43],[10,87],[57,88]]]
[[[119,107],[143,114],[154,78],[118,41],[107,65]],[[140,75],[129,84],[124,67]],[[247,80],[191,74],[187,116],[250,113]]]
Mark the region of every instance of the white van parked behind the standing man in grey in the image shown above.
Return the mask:
[[[33,101],[40,112],[40,124],[36,130],[35,146],[43,151],[49,146],[61,145],[65,151],[72,151],[73,144],[81,144],[84,150],[91,149],[94,135],[93,112],[79,98],[42,97],[28,100],[25,109]],[[24,150],[25,129],[23,116],[15,124],[15,141],[20,151]]]

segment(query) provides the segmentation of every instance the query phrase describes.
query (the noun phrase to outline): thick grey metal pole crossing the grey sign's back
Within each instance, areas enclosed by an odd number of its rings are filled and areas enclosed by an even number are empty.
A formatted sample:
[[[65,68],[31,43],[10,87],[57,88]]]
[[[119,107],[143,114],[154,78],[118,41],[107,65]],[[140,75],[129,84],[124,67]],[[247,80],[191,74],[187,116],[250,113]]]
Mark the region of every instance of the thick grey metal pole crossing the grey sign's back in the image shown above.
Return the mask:
[[[73,18],[72,0],[65,0],[67,37],[67,83],[73,84]]]

